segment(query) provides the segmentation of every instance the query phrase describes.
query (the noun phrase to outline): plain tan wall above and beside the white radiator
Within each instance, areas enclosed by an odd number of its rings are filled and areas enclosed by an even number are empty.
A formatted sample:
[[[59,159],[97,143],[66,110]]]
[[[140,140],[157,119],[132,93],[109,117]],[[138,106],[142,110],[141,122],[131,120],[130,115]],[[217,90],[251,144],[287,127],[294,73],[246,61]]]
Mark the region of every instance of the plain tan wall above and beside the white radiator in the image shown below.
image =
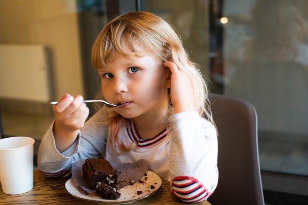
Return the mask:
[[[45,45],[49,50],[50,78],[57,99],[66,92],[84,95],[74,2],[0,0],[0,44]],[[0,72],[5,75],[4,68],[0,68]]]

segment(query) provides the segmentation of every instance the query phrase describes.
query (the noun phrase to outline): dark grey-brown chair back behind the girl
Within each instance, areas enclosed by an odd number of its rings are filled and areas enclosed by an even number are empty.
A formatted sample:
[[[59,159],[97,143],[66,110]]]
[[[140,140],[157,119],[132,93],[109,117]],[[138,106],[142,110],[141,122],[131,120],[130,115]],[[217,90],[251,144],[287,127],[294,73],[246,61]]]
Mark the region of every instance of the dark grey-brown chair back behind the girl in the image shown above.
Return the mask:
[[[257,115],[247,101],[210,96],[218,130],[218,185],[213,205],[264,205],[260,175]]]

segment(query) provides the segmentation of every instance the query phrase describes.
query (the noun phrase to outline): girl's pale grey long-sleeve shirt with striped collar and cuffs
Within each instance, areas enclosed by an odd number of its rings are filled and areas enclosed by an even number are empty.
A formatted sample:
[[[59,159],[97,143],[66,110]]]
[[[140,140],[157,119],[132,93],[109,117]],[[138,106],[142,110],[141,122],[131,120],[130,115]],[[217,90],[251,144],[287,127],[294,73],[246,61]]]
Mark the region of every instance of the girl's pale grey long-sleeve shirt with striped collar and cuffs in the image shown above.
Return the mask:
[[[62,153],[56,148],[52,123],[38,151],[42,175],[66,176],[75,161],[86,158],[103,157],[117,163],[146,159],[149,170],[169,180],[171,192],[185,202],[207,199],[214,192],[218,181],[216,128],[197,112],[169,117],[166,130],[150,140],[143,141],[131,126],[123,137],[135,141],[136,146],[119,156],[108,152],[108,128],[96,123],[98,115],[101,111],[85,123],[74,144]]]

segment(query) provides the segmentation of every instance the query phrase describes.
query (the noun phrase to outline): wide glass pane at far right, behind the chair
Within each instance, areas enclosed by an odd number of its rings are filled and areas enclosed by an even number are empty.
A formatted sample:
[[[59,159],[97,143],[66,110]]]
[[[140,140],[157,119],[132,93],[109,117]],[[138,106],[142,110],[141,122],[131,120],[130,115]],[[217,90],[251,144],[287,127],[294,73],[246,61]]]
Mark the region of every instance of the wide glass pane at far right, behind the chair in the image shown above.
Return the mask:
[[[308,1],[225,0],[224,93],[258,114],[261,169],[308,175]]]

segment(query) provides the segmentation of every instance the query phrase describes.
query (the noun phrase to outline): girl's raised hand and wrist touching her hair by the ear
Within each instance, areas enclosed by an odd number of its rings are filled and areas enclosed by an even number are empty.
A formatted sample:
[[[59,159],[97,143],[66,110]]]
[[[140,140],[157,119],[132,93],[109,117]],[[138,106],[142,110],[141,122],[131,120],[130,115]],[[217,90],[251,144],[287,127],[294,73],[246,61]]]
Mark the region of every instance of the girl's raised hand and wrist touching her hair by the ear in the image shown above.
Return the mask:
[[[188,75],[172,61],[166,61],[163,65],[171,71],[171,102],[174,106],[174,114],[196,111],[194,90]]]

